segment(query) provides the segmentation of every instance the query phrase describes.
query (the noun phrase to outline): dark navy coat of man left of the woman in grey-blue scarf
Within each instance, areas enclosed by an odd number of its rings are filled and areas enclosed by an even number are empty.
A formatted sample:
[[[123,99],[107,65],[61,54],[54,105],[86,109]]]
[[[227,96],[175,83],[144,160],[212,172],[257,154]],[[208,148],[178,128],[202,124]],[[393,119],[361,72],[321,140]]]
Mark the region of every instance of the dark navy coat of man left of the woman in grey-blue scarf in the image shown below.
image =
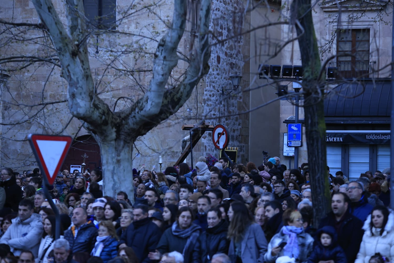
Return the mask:
[[[160,228],[147,217],[132,222],[123,232],[119,244],[125,243],[130,246],[139,262],[153,262],[148,258],[148,254],[156,249],[161,236]]]

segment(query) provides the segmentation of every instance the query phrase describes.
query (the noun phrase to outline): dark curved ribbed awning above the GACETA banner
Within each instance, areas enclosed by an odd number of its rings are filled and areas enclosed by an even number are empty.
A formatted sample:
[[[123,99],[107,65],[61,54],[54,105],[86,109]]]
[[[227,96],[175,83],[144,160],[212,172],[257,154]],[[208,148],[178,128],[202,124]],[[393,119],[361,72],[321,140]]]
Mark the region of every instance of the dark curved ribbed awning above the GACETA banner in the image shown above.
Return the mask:
[[[325,96],[324,116],[345,121],[361,117],[372,122],[374,117],[379,117],[379,121],[390,121],[390,101],[390,80],[342,83]]]

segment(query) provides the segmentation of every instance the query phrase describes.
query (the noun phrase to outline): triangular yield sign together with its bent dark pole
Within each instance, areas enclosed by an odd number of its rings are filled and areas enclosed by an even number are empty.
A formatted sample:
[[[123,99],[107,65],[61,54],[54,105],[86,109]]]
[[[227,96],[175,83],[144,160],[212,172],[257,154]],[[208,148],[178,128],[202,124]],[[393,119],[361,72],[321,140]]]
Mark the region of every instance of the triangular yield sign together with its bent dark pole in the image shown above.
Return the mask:
[[[60,213],[52,201],[48,187],[54,183],[56,175],[63,165],[69,151],[72,138],[70,136],[53,136],[44,134],[29,134],[28,140],[37,160],[41,174],[43,174],[43,191],[50,207],[55,213],[55,238],[60,237]],[[59,143],[60,142],[60,143]],[[57,143],[57,145],[56,145]],[[55,144],[55,145],[54,145]],[[60,145],[62,148],[58,148]],[[56,163],[57,162],[57,163]]]

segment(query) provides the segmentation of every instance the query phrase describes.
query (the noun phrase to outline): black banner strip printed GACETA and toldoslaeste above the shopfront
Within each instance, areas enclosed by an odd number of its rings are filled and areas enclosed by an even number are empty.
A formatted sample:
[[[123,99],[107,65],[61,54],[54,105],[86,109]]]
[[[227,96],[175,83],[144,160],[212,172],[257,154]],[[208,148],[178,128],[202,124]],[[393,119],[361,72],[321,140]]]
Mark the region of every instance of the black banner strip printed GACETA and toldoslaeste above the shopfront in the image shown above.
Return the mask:
[[[391,134],[386,132],[326,133],[327,144],[390,144]]]

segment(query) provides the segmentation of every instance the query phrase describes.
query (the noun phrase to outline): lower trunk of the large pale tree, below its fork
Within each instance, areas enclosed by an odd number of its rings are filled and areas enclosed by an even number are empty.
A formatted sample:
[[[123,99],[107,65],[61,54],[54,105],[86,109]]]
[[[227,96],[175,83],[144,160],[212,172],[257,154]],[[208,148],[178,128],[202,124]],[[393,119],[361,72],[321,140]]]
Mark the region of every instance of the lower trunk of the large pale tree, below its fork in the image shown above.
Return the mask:
[[[103,140],[95,136],[95,139],[101,152],[103,194],[116,197],[117,192],[124,191],[128,199],[134,203],[133,143],[122,138]]]

